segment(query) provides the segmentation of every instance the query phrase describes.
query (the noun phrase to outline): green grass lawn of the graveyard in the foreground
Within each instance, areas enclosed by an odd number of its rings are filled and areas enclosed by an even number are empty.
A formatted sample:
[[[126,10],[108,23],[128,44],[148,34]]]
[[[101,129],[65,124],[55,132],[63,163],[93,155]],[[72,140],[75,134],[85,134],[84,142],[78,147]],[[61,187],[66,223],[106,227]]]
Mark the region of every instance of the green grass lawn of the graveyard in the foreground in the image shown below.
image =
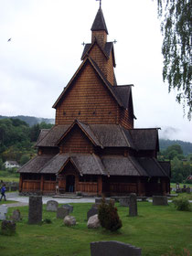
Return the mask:
[[[78,224],[65,227],[56,213],[43,211],[43,219],[51,219],[51,224],[28,225],[28,207],[19,208],[22,221],[16,223],[16,235],[0,235],[0,254],[4,256],[90,256],[90,242],[97,240],[119,240],[142,248],[143,256],[183,255],[187,249],[192,253],[192,213],[177,211],[172,204],[155,207],[149,202],[138,203],[138,217],[128,217],[128,208],[117,204],[123,220],[123,228],[118,232],[104,229],[87,229],[86,215],[90,203],[72,204],[72,215]],[[9,208],[11,215],[15,208]],[[171,251],[176,254],[165,254]],[[191,254],[185,254],[187,256]],[[121,255],[117,255],[121,256]]]

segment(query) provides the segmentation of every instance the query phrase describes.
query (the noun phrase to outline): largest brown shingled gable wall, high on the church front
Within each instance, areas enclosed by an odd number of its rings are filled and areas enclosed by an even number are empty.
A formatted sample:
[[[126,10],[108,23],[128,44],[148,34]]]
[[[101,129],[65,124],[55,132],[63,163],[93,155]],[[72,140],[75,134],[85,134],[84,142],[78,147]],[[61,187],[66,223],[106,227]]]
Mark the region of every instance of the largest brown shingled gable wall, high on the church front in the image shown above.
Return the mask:
[[[117,123],[118,104],[90,64],[81,71],[56,110],[56,124]]]

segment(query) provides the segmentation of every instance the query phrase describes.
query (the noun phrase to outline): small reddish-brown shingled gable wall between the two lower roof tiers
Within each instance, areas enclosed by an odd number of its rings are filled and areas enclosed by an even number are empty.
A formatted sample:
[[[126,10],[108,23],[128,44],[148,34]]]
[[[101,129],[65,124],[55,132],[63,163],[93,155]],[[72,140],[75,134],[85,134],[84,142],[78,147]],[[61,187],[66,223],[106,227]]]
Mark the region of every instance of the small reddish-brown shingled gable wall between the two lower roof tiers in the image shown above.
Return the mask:
[[[93,144],[80,130],[79,127],[73,127],[72,131],[66,135],[60,145],[60,153],[92,153]]]

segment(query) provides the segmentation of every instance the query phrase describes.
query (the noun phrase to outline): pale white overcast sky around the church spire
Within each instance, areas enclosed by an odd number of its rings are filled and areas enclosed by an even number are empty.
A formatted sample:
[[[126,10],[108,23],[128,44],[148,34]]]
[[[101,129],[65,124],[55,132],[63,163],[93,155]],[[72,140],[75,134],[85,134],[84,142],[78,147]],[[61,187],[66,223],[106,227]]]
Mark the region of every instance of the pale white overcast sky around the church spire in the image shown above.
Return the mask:
[[[135,127],[192,143],[192,123],[162,80],[155,2],[102,1],[108,41],[117,40],[116,79],[134,84]],[[95,0],[0,0],[0,115],[55,118],[52,105],[80,66],[98,8]]]

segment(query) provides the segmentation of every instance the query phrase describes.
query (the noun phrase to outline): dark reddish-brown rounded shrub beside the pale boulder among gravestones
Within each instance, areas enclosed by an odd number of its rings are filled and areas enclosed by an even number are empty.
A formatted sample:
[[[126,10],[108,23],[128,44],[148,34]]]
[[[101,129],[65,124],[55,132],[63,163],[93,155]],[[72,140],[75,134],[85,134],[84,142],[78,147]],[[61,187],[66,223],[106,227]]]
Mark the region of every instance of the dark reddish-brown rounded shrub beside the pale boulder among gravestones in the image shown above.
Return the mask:
[[[100,219],[101,227],[111,231],[116,231],[122,228],[122,220],[119,219],[117,208],[112,205],[112,202],[106,204],[105,199],[102,198],[99,206],[98,218]]]

